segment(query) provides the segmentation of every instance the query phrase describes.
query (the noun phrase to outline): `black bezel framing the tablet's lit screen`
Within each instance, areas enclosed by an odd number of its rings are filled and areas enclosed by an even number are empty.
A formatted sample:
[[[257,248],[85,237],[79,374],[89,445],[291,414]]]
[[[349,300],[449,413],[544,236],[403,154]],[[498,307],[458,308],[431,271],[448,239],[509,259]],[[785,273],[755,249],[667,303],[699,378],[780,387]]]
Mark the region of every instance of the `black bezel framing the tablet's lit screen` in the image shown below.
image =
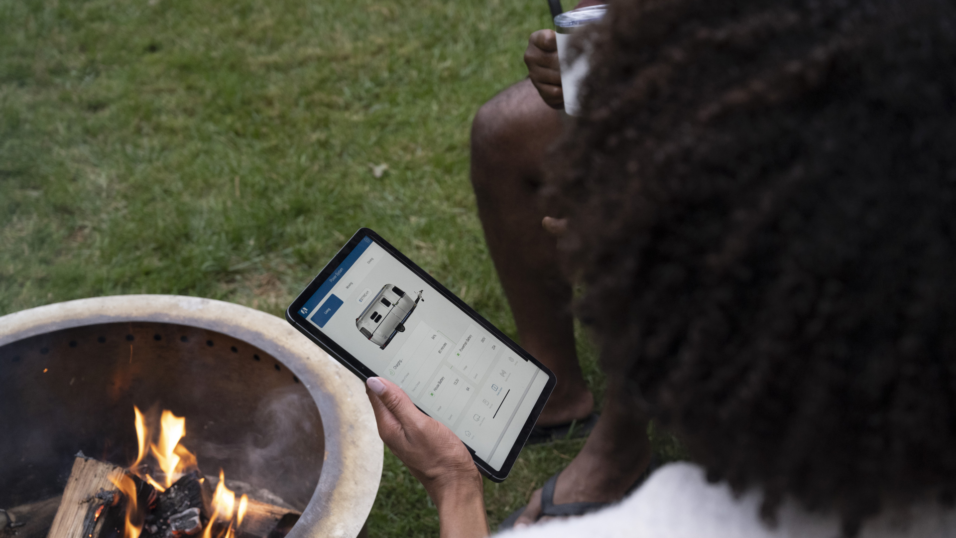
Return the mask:
[[[402,262],[402,265],[415,273],[415,275],[430,284],[432,288],[438,293],[442,294],[445,299],[455,304],[455,306],[458,306],[458,308],[467,314],[472,321],[474,321],[477,325],[481,325],[485,330],[488,330],[489,333],[500,340],[502,344],[509,347],[512,351],[517,353],[518,356],[526,361],[531,361],[534,366],[548,375],[548,381],[545,383],[544,390],[541,391],[541,394],[538,396],[538,400],[534,403],[531,414],[528,415],[528,419],[525,421],[524,426],[522,426],[521,432],[515,439],[514,444],[511,445],[511,452],[509,452],[508,457],[505,459],[505,462],[502,464],[500,470],[494,470],[487,461],[475,456],[474,450],[472,450],[465,441],[462,441],[468,449],[468,452],[471,454],[471,459],[474,460],[475,465],[477,465],[482,474],[487,476],[492,482],[504,481],[506,478],[508,478],[509,473],[511,473],[511,467],[514,465],[514,461],[517,460],[518,454],[521,453],[521,449],[524,448],[525,442],[527,442],[528,437],[531,435],[538,415],[541,415],[541,411],[544,409],[545,403],[548,401],[548,397],[551,395],[551,392],[554,391],[554,385],[557,382],[554,372],[532,357],[531,353],[514,343],[511,338],[498,330],[498,327],[491,325],[491,323],[482,317],[481,314],[475,312],[473,308],[467,305],[467,303],[459,299],[455,294],[448,291],[448,289],[445,288],[441,282],[432,278],[432,276],[424,271],[424,269],[416,265],[411,259],[405,257],[401,251],[389,244],[388,241],[382,239],[380,235],[368,228],[360,228],[355,235],[352,235],[348,242],[345,243],[345,246],[339,249],[336,256],[333,257],[332,260],[330,260],[321,271],[319,271],[318,275],[315,276],[315,279],[313,279],[312,282],[310,282],[309,285],[306,286],[301,293],[299,293],[298,297],[295,298],[293,303],[289,305],[289,308],[286,309],[286,320],[296,329],[298,329],[299,332],[308,336],[309,339],[318,345],[318,347],[324,349],[327,353],[329,353],[329,355],[345,366],[345,368],[358,375],[359,379],[362,381],[365,381],[369,377],[376,376],[376,373],[362,364],[358,358],[346,351],[343,347],[338,346],[331,337],[323,333],[322,330],[315,325],[310,324],[305,317],[299,314],[299,309],[306,302],[308,302],[310,298],[312,298],[315,292],[318,291],[318,288],[321,287],[325,280],[332,275],[333,271],[337,269],[342,261],[344,261],[345,258],[347,258],[349,254],[355,250],[355,248],[359,245],[359,242],[361,242],[365,236],[370,237],[373,241],[378,243],[382,249]],[[422,410],[422,408],[419,409]],[[424,410],[422,410],[422,413],[428,415],[424,412]]]

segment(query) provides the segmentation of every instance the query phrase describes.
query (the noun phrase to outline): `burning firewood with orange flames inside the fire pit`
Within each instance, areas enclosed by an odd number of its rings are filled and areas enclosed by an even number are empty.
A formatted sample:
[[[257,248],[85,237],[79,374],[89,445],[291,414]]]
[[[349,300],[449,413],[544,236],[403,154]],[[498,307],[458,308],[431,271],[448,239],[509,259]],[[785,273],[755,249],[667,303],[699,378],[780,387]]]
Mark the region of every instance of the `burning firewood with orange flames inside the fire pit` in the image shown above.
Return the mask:
[[[122,469],[77,454],[47,538],[284,538],[298,520],[286,507],[237,499],[222,469],[218,481],[201,478],[195,455],[179,442],[184,417],[164,410],[157,432],[133,411],[137,459]]]

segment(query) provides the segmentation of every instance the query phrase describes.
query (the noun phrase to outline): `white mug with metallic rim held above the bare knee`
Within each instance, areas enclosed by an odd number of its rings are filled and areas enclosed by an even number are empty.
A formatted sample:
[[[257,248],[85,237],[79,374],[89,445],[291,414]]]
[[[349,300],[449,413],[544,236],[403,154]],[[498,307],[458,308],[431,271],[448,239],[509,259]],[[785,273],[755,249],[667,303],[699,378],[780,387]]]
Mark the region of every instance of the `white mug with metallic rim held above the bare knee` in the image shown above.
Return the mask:
[[[557,38],[557,59],[561,64],[561,89],[564,93],[564,111],[576,116],[580,111],[577,101],[581,81],[591,67],[587,43],[584,43],[579,55],[572,58],[571,36],[585,27],[604,18],[607,6],[589,6],[565,11],[554,17],[554,34]]]

